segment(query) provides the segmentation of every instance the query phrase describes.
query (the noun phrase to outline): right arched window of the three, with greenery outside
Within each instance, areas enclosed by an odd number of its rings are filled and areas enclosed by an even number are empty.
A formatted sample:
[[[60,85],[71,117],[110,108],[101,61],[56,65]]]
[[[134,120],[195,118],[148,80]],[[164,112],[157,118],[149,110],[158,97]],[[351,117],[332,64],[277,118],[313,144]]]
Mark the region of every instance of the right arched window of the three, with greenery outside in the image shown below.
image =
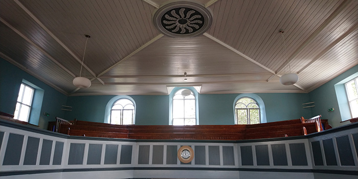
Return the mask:
[[[260,107],[255,100],[248,97],[240,98],[235,103],[236,124],[260,123]]]

